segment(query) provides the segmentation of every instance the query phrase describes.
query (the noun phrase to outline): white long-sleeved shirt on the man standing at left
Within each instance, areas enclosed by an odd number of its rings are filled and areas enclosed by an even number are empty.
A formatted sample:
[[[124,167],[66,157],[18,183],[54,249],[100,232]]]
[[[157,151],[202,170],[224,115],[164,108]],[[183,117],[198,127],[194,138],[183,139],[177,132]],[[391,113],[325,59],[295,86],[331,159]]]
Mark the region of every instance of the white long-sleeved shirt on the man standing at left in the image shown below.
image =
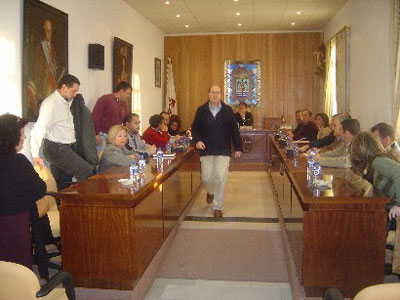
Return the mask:
[[[32,157],[39,157],[43,138],[61,144],[75,143],[74,119],[70,110],[72,101],[66,101],[57,90],[43,100],[39,118],[31,131]]]

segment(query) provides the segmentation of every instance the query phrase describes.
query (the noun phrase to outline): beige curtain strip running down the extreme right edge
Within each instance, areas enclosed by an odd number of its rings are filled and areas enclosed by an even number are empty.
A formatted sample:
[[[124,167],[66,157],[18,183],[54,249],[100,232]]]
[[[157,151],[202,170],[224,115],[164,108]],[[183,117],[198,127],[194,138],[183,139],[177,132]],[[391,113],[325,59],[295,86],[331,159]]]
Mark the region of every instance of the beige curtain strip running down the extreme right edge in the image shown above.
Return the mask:
[[[400,1],[391,0],[389,23],[390,81],[392,87],[390,106],[396,139],[400,139]]]

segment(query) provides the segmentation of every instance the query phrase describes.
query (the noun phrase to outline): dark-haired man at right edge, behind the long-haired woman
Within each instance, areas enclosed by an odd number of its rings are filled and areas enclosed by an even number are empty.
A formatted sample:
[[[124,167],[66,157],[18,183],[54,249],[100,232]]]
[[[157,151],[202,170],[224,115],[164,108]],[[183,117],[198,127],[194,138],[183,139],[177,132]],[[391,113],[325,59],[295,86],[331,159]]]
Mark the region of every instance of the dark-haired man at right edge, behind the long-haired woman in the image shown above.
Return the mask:
[[[391,125],[381,122],[371,128],[371,133],[380,141],[386,154],[400,162],[400,147],[394,139],[394,129]]]

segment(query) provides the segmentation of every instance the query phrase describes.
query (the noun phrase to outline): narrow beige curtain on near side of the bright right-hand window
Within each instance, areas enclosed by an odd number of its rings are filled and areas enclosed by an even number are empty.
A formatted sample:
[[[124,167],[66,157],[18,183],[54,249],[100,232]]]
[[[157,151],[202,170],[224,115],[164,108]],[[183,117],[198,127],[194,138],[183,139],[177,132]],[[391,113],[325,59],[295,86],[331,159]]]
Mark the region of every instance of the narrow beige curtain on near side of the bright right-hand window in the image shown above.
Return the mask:
[[[337,112],[348,111],[347,58],[349,28],[345,27],[336,34],[336,103]]]

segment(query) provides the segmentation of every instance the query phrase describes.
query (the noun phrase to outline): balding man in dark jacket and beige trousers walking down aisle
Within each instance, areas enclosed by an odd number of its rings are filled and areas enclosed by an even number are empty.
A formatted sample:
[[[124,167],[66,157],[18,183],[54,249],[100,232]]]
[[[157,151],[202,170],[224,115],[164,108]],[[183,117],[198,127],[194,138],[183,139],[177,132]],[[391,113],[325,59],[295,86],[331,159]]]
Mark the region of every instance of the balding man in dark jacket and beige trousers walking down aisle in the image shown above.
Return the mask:
[[[243,151],[233,111],[221,97],[221,88],[212,86],[208,91],[209,100],[197,109],[192,126],[193,141],[200,150],[201,179],[206,187],[207,203],[213,203],[216,218],[222,217],[231,144],[235,157],[240,157]]]

